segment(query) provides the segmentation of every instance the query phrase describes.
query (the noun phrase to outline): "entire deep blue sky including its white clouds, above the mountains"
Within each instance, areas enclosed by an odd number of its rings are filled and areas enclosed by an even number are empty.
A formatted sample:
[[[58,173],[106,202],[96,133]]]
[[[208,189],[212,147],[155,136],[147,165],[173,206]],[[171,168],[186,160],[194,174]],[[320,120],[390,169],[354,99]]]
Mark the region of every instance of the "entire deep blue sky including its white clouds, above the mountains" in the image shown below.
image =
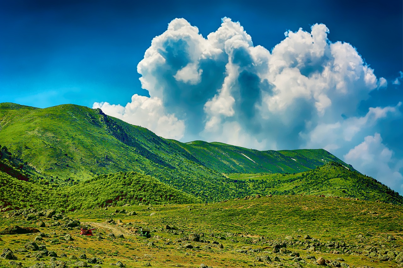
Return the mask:
[[[401,1],[1,1],[0,102],[101,107],[181,141],[326,148],[402,193],[402,9]],[[240,41],[225,50],[225,40],[207,38],[213,32]],[[323,47],[304,43],[310,36]]]

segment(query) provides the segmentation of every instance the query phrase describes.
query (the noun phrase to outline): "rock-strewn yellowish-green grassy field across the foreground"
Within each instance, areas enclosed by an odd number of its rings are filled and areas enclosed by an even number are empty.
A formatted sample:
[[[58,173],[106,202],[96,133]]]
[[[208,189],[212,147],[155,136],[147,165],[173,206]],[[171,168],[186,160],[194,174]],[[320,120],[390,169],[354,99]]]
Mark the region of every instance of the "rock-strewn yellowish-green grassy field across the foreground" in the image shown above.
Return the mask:
[[[126,216],[131,211],[137,215]],[[39,228],[38,221],[49,225],[54,220],[37,216],[26,221],[9,213],[0,214],[0,230],[10,225],[38,228],[49,237],[37,244],[55,251],[56,259],[69,267],[78,265],[72,256],[81,254],[87,259],[79,260],[87,263],[99,258],[100,267],[120,261],[126,267],[161,268],[198,268],[201,264],[214,268],[317,267],[309,256],[323,257],[333,267],[386,268],[399,266],[396,256],[403,256],[402,207],[347,198],[263,196],[211,204],[96,208],[62,215],[97,227],[92,237],[80,236],[77,227],[62,227],[67,218],[57,220],[60,226]],[[123,225],[105,223],[111,218],[120,219]],[[166,225],[178,230],[167,230]],[[140,237],[135,232],[140,227],[150,229],[151,237]],[[111,233],[123,234],[123,238],[111,237]],[[194,233],[200,241],[191,241]],[[67,234],[74,240],[66,241]],[[50,265],[51,257],[35,260],[38,251],[18,251],[36,236],[0,235],[0,249],[10,248],[23,266],[40,261]],[[187,248],[188,244],[193,248]],[[8,267],[8,260],[0,266]]]

